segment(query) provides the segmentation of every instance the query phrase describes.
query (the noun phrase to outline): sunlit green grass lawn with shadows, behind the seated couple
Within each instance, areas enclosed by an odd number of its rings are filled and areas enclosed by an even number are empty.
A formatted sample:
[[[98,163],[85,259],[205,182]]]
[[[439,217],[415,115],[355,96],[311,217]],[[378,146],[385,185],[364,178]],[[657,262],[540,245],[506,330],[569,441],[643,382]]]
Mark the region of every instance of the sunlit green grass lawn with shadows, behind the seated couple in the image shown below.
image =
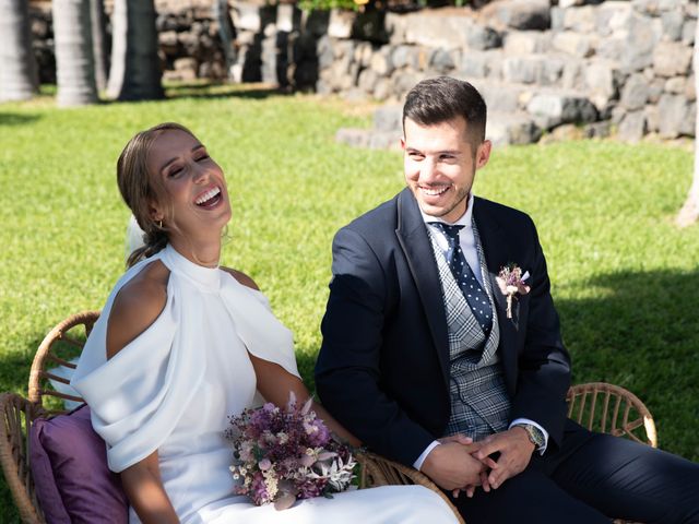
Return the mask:
[[[0,106],[0,391],[26,393],[51,325],[99,309],[123,270],[129,213],[116,158],[138,130],[190,127],[228,177],[224,263],[257,281],[296,335],[312,385],[334,231],[402,186],[396,153],[335,144],[369,112],[312,96],[217,88],[167,102],[58,110],[50,98]],[[366,108],[364,108],[366,109]],[[574,381],[637,393],[662,448],[699,460],[699,227],[673,214],[687,151],[614,142],[496,150],[476,192],[529,212],[547,254]],[[16,515],[0,481],[0,522]]]

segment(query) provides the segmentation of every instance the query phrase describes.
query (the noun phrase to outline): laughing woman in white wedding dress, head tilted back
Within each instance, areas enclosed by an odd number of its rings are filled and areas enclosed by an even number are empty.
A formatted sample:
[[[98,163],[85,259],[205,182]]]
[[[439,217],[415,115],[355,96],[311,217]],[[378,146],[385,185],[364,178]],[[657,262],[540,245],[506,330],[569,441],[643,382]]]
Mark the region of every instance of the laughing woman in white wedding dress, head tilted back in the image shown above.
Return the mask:
[[[304,386],[292,333],[247,275],[218,265],[230,204],[221,167],[186,128],[137,134],[117,163],[145,231],[90,335],[71,385],[92,409],[120,473],[130,522],[442,523],[433,491],[390,486],[297,502],[286,511],[234,493],[228,416],[259,392],[284,406]],[[319,417],[354,441],[318,404]],[[354,441],[356,443],[356,441]]]

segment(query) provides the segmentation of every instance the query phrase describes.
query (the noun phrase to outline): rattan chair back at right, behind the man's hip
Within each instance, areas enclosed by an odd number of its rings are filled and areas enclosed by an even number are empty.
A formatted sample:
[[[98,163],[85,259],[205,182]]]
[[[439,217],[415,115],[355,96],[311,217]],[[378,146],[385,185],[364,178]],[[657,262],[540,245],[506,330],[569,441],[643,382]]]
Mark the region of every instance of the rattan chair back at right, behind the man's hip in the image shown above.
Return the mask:
[[[567,401],[568,417],[585,428],[657,448],[651,413],[624,388],[604,382],[573,385]]]

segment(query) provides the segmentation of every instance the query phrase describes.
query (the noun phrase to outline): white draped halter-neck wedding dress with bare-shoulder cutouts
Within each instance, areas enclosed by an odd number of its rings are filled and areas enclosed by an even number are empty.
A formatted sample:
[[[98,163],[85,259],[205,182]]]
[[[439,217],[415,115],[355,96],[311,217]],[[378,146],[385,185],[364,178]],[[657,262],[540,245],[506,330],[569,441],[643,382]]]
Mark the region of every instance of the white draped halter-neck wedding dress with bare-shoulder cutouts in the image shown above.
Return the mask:
[[[155,260],[170,271],[166,306],[107,360],[114,298]],[[107,442],[109,467],[121,472],[157,450],[163,485],[186,524],[455,521],[447,504],[420,486],[352,490],[297,501],[281,512],[234,495],[232,448],[223,432],[229,416],[256,405],[248,352],[298,376],[292,333],[261,293],[223,270],[190,262],[171,246],[130,269],[107,299],[71,381]],[[130,522],[140,522],[133,510]]]

